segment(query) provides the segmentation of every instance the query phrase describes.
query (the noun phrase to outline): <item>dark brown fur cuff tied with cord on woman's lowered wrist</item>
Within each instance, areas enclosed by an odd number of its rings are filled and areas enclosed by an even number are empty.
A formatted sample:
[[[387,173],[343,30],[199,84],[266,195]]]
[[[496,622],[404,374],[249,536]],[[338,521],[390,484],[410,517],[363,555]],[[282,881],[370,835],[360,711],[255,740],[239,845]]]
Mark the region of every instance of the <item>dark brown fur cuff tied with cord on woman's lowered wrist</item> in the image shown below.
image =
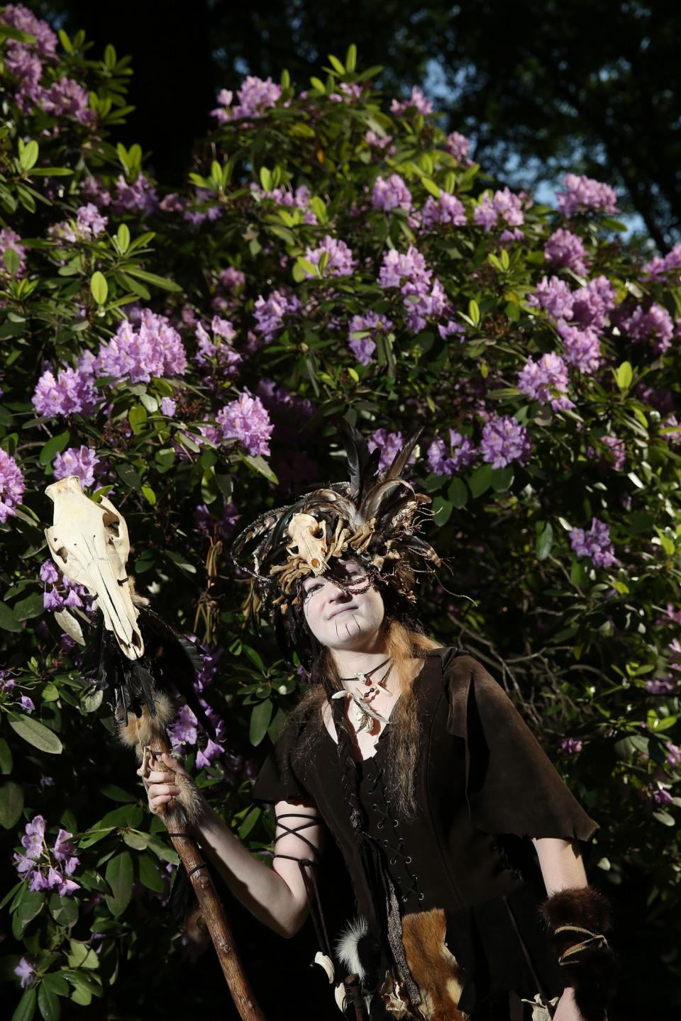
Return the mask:
[[[592,886],[571,887],[551,894],[541,913],[580,1013],[585,1021],[603,1021],[615,983],[615,955],[605,939],[611,929],[607,900]]]

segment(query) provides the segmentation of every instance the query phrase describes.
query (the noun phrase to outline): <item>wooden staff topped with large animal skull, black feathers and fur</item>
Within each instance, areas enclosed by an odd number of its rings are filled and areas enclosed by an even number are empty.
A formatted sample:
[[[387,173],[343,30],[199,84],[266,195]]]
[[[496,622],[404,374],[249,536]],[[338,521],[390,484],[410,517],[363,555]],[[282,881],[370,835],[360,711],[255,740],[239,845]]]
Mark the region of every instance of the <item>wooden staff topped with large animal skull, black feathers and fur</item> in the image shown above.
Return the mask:
[[[209,733],[213,733],[194,695],[200,661],[191,642],[168,627],[137,596],[126,564],[130,541],[126,521],[113,504],[83,493],[80,480],[68,476],[46,489],[54,502],[54,524],[45,529],[47,543],[60,571],[85,585],[99,611],[86,676],[112,692],[113,716],[120,740],[134,747],[144,779],[152,760],[171,751],[166,727],[175,711],[164,690],[181,691]],[[164,765],[164,768],[169,769]],[[201,914],[213,941],[227,984],[244,1021],[264,1021],[250,990],[205,862],[187,828],[196,819],[199,793],[190,777],[176,773],[180,796],[160,810],[173,845],[187,870]]]

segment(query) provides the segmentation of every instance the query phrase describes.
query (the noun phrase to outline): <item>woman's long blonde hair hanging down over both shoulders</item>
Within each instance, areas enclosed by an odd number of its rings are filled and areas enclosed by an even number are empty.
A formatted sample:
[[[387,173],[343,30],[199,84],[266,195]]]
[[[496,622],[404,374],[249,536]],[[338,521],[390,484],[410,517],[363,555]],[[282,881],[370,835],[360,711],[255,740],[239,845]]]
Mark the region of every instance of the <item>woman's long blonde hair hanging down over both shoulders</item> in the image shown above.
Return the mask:
[[[391,620],[385,624],[385,645],[386,655],[392,660],[390,676],[396,682],[391,687],[395,694],[400,693],[390,714],[390,756],[387,758],[386,788],[398,812],[408,818],[416,811],[415,773],[421,738],[410,661],[424,659],[429,649],[442,648],[442,642],[412,631],[399,621]],[[342,690],[343,685],[330,648],[323,648],[319,666],[326,674],[330,686],[337,691]],[[314,744],[324,736],[323,713],[326,702],[325,685],[319,683],[303,695],[293,710],[293,718],[307,723],[304,736],[294,751],[294,758],[300,764],[309,759]]]

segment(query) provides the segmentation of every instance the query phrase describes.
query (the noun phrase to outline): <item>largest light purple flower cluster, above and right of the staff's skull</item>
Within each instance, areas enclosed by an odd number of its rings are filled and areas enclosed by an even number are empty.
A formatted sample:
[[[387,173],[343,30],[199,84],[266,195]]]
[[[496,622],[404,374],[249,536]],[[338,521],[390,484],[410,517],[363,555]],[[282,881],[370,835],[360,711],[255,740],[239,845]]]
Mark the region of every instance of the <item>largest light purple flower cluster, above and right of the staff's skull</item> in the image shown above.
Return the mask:
[[[108,343],[102,344],[96,370],[101,376],[129,376],[131,383],[148,383],[152,376],[184,376],[187,354],[165,315],[143,308],[137,327],[124,320]]]

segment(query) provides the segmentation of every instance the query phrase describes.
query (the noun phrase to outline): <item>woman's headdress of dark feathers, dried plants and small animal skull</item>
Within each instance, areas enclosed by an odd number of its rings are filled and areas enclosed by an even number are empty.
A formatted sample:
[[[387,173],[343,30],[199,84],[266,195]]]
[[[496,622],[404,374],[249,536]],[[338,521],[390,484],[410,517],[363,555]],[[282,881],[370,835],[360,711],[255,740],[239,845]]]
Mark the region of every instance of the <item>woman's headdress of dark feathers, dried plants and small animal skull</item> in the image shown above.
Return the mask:
[[[336,426],[345,446],[348,481],[300,496],[260,515],[232,546],[235,562],[253,578],[251,596],[262,611],[286,615],[301,603],[302,580],[334,571],[334,560],[358,561],[370,581],[383,582],[414,602],[417,574],[440,565],[417,531],[430,496],[400,478],[422,430],[405,441],[390,467],[379,472],[380,448],[344,419]],[[250,551],[249,551],[250,550]],[[252,607],[251,607],[252,609]]]

